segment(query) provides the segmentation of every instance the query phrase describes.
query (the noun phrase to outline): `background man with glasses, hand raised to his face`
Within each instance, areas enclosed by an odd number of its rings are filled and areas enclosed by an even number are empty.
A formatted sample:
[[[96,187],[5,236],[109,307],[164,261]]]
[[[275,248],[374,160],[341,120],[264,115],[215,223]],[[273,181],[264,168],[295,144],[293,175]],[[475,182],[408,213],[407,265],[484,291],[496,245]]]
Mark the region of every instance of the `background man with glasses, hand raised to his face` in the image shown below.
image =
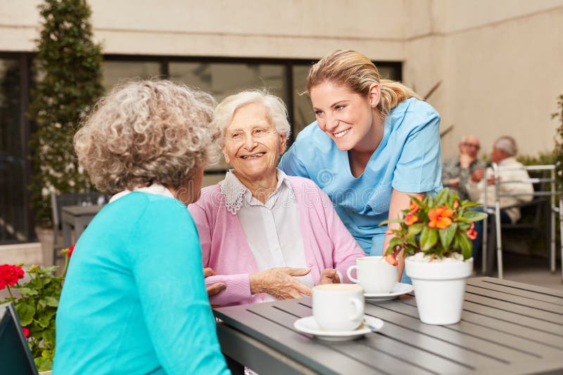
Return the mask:
[[[442,165],[442,183],[445,187],[457,191],[460,199],[469,199],[467,183],[472,176],[481,176],[485,162],[477,159],[481,149],[479,138],[476,136],[464,136],[458,145],[460,154],[456,157],[445,159]]]

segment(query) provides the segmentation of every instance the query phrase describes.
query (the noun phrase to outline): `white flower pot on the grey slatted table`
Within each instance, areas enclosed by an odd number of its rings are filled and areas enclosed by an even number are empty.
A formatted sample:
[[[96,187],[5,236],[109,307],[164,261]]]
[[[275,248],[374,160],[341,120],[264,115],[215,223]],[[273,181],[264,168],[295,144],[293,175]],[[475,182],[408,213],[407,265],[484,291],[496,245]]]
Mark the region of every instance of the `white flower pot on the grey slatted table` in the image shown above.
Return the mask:
[[[426,324],[455,324],[461,320],[465,279],[473,270],[467,261],[413,261],[405,259],[405,272],[415,287],[418,314]]]

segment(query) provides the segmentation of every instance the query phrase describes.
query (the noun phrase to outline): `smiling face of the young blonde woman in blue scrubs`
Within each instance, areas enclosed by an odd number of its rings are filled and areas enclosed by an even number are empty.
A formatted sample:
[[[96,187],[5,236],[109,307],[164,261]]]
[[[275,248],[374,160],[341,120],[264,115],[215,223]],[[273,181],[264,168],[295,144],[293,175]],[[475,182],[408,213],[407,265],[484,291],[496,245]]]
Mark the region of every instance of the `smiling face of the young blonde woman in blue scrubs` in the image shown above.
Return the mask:
[[[343,151],[371,149],[377,115],[374,109],[380,94],[377,84],[372,85],[367,97],[329,81],[310,88],[319,128]]]

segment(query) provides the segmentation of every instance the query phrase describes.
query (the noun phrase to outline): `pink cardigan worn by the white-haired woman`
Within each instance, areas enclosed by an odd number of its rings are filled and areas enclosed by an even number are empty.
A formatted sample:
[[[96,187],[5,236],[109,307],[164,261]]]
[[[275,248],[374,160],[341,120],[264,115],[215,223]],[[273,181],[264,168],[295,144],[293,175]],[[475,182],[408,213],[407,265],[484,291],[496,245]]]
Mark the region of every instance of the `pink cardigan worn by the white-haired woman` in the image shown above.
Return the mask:
[[[324,269],[335,268],[343,282],[350,282],[346,270],[357,258],[366,256],[365,252],[343,225],[329,197],[312,180],[286,178],[298,204],[305,261],[313,281],[317,284]],[[224,306],[264,301],[266,294],[251,294],[248,275],[258,272],[258,266],[239,217],[227,211],[220,184],[205,187],[198,202],[188,208],[198,228],[203,267],[217,272],[207,277],[205,284],[227,285],[227,289],[209,298],[210,303]]]

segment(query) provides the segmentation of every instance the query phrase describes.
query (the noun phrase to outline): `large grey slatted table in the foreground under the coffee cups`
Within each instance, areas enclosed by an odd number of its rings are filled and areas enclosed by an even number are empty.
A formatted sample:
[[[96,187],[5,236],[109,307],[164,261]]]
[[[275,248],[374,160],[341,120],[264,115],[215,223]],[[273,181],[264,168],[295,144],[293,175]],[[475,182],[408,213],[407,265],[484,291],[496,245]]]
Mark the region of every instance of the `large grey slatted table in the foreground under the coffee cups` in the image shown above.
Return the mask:
[[[311,299],[217,308],[223,353],[258,374],[562,374],[563,290],[468,279],[462,321],[418,319],[414,295],[368,302],[384,327],[331,343],[293,328]]]

